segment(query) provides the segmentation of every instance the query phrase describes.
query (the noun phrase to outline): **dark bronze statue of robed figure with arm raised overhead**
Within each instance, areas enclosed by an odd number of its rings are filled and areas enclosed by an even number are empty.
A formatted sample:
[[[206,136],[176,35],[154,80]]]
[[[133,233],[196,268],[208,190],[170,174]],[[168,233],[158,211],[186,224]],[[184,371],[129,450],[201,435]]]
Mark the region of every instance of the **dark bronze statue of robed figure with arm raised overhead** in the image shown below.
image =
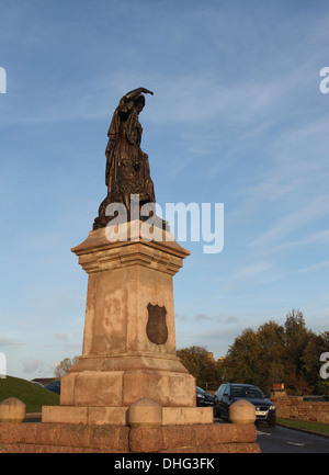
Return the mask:
[[[105,215],[105,211],[111,203],[124,204],[129,218],[132,194],[139,195],[139,206],[156,202],[148,156],[140,149],[143,128],[138,115],[144,109],[144,94],[147,93],[154,94],[145,88],[128,92],[113,114],[105,150],[107,196],[100,205],[94,229],[107,225],[111,217]]]

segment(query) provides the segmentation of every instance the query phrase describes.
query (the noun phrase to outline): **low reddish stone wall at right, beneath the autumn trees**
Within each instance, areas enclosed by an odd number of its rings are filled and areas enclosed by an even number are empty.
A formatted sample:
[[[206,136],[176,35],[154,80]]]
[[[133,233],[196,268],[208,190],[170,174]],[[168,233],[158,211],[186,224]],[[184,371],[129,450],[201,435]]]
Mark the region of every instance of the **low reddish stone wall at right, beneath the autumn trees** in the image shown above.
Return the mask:
[[[271,397],[276,417],[329,423],[329,403],[303,400],[302,396]]]

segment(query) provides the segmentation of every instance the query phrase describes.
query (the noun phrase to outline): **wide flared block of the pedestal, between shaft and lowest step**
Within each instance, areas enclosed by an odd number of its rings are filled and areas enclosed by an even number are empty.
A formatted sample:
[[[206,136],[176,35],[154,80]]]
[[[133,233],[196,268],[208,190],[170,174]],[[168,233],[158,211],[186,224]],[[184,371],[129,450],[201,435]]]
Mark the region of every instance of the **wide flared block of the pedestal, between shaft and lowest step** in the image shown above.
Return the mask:
[[[61,378],[60,406],[127,407],[148,397],[161,406],[195,407],[195,380],[177,357],[83,358]]]

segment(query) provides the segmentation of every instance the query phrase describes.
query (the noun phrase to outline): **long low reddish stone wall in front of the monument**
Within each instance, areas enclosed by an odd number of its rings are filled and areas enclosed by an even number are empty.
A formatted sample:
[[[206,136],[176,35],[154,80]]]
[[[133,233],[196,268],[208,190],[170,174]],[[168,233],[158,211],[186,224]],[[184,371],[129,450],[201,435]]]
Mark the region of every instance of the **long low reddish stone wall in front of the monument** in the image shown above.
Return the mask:
[[[254,425],[0,423],[0,453],[260,453]]]

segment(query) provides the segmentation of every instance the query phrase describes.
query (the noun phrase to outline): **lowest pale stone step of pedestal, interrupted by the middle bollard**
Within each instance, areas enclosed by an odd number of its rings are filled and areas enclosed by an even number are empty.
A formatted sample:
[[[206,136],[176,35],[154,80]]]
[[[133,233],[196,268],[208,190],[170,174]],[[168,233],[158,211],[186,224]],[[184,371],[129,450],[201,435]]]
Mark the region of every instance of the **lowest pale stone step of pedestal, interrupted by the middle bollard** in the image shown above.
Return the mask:
[[[92,426],[126,426],[128,407],[43,406],[42,420],[46,423]],[[209,407],[162,407],[162,425],[213,423]]]

